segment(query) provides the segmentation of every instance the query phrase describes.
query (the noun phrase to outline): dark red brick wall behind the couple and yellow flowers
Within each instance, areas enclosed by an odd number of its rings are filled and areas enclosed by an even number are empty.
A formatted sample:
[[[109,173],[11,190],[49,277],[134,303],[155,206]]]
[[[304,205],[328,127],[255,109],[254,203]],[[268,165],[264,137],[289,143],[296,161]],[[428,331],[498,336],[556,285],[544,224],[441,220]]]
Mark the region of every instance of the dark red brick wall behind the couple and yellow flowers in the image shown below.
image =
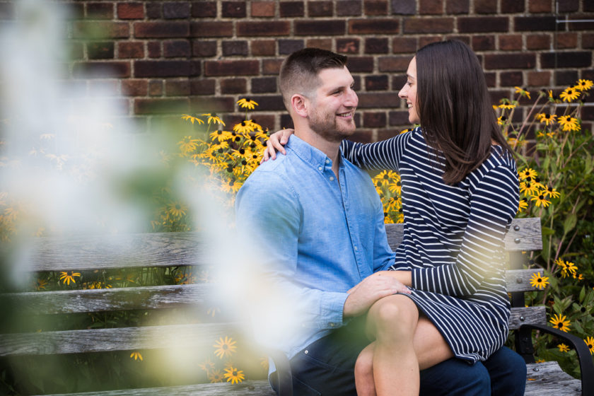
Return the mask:
[[[408,126],[397,92],[415,50],[436,40],[463,40],[479,54],[494,103],[514,86],[559,92],[578,78],[594,80],[594,21],[583,21],[594,19],[594,0],[62,3],[71,11],[71,77],[107,74],[80,82],[89,91],[115,88],[122,115],[148,128],[180,112],[217,112],[233,123],[241,117],[235,102],[246,97],[260,104],[253,114],[260,124],[290,126],[276,76],[287,54],[307,46],[349,56],[361,141]],[[0,19],[13,12],[0,0]],[[589,100],[583,119],[592,130]]]

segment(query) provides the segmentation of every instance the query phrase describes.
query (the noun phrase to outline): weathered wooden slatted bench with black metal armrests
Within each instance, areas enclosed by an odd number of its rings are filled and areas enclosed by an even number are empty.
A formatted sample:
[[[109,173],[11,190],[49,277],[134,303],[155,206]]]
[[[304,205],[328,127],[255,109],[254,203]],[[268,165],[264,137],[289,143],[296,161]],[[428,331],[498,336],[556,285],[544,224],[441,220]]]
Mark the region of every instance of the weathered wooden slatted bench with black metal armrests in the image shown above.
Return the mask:
[[[395,248],[402,240],[402,225],[388,224],[388,241]],[[506,235],[510,269],[506,273],[511,293],[510,327],[515,332],[518,353],[528,363],[525,395],[594,395],[594,367],[583,340],[547,326],[544,306],[525,307],[523,292],[533,290],[530,276],[535,269],[522,269],[522,252],[542,248],[540,219],[516,219]],[[195,233],[147,233],[80,237],[69,240],[39,238],[31,252],[33,268],[43,271],[88,271],[120,267],[207,266],[204,245]],[[16,310],[51,315],[104,312],[113,310],[162,310],[166,308],[207,307],[211,304],[213,284],[141,286],[118,289],[42,291],[6,293],[0,304]],[[4,305],[6,306],[6,305]],[[202,318],[204,319],[204,318]],[[183,334],[187,348],[212,347],[221,334],[237,330],[233,322],[195,322],[146,327],[101,328],[0,334],[0,356],[76,354],[100,351],[134,351],[172,348],[173,334]],[[581,380],[561,371],[557,362],[535,363],[532,356],[532,330],[552,332],[576,349],[581,365]],[[282,360],[282,358],[280,358]],[[286,359],[285,359],[286,360]],[[286,367],[278,361],[277,367]],[[289,379],[286,371],[281,378]],[[283,382],[281,380],[281,382]],[[283,387],[290,383],[283,382]],[[290,394],[290,391],[287,392]],[[71,394],[74,395],[74,394]],[[180,385],[163,388],[114,390],[76,395],[274,395],[267,380],[243,383]]]

